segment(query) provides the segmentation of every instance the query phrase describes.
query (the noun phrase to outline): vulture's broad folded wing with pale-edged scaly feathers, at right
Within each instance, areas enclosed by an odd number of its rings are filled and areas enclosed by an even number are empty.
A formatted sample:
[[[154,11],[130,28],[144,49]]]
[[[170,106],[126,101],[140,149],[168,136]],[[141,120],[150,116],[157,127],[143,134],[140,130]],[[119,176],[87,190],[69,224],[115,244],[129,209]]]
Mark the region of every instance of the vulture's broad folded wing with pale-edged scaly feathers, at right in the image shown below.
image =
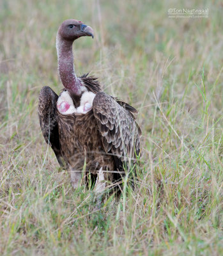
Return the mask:
[[[102,135],[105,152],[111,152],[118,159],[135,158],[139,154],[141,130],[132,113],[136,109],[104,92],[96,94],[93,100],[93,113]],[[132,111],[132,112],[131,112]],[[137,112],[137,111],[136,111]],[[121,168],[120,161],[118,168]]]

